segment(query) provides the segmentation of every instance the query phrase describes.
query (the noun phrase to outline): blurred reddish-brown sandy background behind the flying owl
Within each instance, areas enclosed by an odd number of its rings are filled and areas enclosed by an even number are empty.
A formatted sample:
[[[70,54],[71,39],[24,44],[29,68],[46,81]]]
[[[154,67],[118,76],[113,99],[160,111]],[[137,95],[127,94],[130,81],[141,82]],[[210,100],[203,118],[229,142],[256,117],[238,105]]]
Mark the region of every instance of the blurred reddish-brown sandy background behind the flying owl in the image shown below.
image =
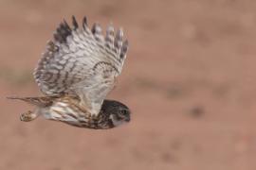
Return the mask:
[[[0,169],[256,169],[256,2],[0,0]],[[130,50],[108,97],[132,122],[111,130],[19,114],[40,95],[32,71],[71,15],[122,26]]]

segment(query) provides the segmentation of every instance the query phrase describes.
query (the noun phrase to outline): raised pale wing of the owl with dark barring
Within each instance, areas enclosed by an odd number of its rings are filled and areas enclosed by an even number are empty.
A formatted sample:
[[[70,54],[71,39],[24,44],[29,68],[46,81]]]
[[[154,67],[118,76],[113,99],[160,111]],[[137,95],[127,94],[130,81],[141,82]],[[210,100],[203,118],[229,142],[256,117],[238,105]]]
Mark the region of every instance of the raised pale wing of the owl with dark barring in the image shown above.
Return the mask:
[[[72,26],[61,23],[47,43],[34,77],[46,95],[77,95],[84,107],[98,114],[121,72],[127,49],[121,29],[115,34],[108,26],[103,37],[99,24],[90,30],[84,17],[79,28],[73,16]]]

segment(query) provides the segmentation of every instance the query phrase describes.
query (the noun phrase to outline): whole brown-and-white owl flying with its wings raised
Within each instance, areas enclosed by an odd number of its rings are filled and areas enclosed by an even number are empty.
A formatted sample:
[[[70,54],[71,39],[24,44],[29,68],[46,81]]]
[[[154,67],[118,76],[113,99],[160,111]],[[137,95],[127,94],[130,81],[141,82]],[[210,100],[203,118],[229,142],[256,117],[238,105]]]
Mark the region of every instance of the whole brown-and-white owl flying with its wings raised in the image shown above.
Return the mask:
[[[122,29],[107,26],[105,36],[99,24],[90,29],[86,17],[79,26],[63,21],[47,42],[46,51],[34,71],[44,96],[9,97],[35,106],[20,115],[21,121],[46,119],[75,127],[106,129],[130,121],[130,110],[119,101],[105,99],[121,73],[128,50]]]

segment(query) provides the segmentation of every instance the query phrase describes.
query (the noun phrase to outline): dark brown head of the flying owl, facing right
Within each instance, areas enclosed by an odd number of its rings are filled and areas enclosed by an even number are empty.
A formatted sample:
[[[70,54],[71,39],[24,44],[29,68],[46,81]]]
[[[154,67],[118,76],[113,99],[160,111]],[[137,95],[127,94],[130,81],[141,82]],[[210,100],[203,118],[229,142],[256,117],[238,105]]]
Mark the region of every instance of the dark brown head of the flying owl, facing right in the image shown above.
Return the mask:
[[[131,111],[118,101],[104,100],[101,110],[109,115],[109,121],[114,127],[130,122]]]

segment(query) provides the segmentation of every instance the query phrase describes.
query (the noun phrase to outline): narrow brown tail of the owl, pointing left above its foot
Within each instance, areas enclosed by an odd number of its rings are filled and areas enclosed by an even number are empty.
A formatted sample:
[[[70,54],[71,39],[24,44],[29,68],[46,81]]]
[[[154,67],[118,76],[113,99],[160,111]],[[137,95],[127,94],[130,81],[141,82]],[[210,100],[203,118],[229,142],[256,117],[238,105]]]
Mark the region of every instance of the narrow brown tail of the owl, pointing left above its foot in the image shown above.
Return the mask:
[[[47,97],[47,96],[43,96],[43,97],[13,97],[13,96],[9,96],[7,97],[8,99],[14,99],[14,100],[22,100],[25,101],[29,104],[38,106],[38,107],[47,107],[52,105],[53,99],[56,97]]]

